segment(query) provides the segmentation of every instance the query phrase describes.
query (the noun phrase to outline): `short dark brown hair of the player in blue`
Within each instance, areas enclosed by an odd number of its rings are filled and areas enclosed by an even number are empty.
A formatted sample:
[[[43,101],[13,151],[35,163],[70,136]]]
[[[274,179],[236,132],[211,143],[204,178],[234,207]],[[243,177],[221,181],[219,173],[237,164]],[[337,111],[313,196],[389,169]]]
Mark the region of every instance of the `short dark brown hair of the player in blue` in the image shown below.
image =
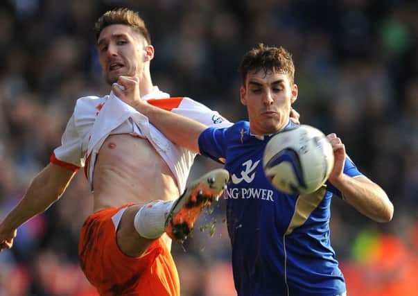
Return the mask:
[[[288,76],[290,85],[295,80],[295,65],[293,64],[292,55],[282,46],[273,47],[265,46],[259,43],[257,47],[247,51],[240,64],[239,71],[243,78],[243,85],[249,71],[258,72],[261,69],[267,73],[284,73]]]

